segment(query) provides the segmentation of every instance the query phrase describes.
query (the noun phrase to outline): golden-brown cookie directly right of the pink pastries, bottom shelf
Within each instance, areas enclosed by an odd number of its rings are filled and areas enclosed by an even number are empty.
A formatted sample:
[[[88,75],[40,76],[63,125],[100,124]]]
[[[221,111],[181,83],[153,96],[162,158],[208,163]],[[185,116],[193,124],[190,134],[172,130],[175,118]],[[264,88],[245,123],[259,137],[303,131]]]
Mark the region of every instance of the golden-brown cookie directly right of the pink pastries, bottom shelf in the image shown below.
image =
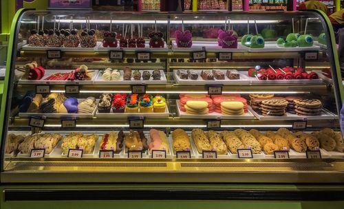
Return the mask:
[[[183,129],[175,129],[172,132],[173,153],[178,151],[191,151],[189,135]]]

